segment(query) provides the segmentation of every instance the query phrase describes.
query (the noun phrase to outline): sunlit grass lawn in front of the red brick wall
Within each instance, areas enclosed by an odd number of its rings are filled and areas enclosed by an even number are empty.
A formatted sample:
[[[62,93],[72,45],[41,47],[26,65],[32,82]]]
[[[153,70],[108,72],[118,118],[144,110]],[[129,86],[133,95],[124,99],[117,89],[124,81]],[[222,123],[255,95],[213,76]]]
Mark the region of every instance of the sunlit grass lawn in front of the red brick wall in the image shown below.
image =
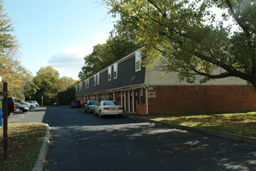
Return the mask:
[[[256,112],[149,115],[146,118],[256,138]]]

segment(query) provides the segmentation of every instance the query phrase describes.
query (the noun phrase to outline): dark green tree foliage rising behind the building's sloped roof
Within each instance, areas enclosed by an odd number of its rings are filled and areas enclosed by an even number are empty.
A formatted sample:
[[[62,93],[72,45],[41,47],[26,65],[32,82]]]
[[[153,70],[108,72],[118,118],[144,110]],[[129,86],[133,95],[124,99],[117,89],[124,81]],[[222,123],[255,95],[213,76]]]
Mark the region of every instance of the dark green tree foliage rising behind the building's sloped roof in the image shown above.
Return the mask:
[[[139,47],[141,46],[135,44],[131,33],[116,34],[112,32],[106,44],[97,44],[93,47],[93,53],[84,58],[85,65],[79,72],[79,79],[89,78]]]

